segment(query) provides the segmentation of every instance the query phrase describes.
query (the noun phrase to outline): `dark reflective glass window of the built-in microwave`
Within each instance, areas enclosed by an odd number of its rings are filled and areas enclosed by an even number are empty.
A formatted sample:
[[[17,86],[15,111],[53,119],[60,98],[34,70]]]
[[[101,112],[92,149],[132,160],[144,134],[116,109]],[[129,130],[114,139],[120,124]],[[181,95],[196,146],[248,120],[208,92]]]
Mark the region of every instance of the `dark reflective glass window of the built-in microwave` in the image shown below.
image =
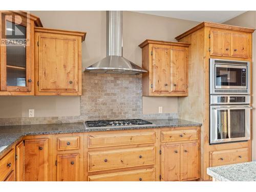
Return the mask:
[[[216,86],[242,86],[242,71],[246,69],[216,67]]]

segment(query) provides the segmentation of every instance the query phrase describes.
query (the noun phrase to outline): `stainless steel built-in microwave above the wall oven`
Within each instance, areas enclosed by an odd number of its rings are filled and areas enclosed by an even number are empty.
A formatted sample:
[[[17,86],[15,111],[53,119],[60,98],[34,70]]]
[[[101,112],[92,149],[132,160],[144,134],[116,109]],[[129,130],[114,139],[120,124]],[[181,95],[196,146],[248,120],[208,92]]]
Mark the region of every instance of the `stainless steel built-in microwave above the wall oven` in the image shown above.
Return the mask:
[[[250,94],[250,62],[210,59],[210,94]]]

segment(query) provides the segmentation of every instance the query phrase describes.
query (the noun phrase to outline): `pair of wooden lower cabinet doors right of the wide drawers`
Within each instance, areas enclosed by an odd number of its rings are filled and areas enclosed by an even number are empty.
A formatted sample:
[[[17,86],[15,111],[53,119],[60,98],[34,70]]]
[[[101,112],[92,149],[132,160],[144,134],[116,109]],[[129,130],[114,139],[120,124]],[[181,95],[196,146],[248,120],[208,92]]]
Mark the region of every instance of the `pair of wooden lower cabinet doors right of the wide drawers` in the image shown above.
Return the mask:
[[[162,181],[198,179],[198,143],[163,144],[161,146]]]

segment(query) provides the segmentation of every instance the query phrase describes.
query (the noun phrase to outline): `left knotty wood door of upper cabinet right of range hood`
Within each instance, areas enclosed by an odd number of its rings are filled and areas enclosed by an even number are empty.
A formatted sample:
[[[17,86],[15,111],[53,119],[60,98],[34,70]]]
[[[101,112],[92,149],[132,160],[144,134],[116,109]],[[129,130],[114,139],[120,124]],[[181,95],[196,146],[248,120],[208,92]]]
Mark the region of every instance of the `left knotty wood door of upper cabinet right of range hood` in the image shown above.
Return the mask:
[[[170,66],[170,50],[169,47],[153,47],[152,57],[152,92],[168,93],[169,86],[169,66]]]

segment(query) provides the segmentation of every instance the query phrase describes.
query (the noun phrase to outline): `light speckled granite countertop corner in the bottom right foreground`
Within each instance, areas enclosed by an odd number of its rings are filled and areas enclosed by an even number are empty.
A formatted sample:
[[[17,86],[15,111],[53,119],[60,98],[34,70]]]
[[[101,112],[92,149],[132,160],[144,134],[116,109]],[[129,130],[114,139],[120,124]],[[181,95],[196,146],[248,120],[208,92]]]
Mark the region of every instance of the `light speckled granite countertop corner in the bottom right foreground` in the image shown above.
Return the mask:
[[[209,167],[207,174],[219,181],[256,181],[256,161]]]

